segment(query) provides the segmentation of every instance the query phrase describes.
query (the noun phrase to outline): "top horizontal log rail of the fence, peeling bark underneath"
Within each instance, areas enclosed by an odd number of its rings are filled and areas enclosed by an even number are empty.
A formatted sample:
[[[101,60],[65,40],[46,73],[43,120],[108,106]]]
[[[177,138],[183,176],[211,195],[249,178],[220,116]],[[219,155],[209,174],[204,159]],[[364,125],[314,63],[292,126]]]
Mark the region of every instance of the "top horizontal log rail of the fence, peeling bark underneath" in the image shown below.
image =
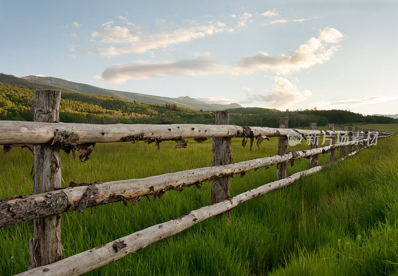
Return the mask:
[[[104,143],[140,140],[163,141],[212,137],[281,137],[296,132],[301,136],[343,135],[349,131],[309,131],[242,127],[232,125],[94,125],[0,121],[0,144],[35,145],[42,143]],[[363,132],[361,132],[363,133]]]

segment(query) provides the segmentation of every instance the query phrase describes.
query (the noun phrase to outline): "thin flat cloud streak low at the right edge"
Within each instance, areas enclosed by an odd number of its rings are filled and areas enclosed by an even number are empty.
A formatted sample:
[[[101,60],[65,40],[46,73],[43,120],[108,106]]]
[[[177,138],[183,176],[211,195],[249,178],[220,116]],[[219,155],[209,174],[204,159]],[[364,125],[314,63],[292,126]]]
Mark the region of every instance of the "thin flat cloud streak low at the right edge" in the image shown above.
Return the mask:
[[[392,100],[398,99],[397,96],[363,96],[357,99],[347,99],[347,100],[340,100],[335,102],[326,102],[321,101],[318,103],[314,103],[317,107],[322,108],[338,108],[338,107],[351,107],[351,106],[360,106],[360,105],[368,105],[368,104],[377,104],[377,103],[384,103],[389,102]]]

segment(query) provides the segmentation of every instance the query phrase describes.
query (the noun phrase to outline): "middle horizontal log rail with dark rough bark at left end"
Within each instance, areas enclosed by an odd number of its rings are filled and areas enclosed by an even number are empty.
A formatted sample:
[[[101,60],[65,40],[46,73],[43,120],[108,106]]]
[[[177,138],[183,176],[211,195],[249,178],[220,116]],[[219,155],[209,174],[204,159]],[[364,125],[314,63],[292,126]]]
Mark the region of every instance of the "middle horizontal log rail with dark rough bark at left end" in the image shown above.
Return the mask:
[[[341,142],[309,150],[298,150],[283,155],[257,158],[234,164],[203,167],[180,172],[166,173],[142,179],[117,180],[103,183],[83,183],[55,191],[3,199],[0,201],[0,227],[19,224],[33,219],[59,214],[66,211],[83,211],[107,203],[130,201],[134,204],[142,196],[154,199],[171,189],[220,178],[225,175],[268,167],[276,163],[326,153],[330,149],[364,143],[366,139]],[[74,184],[76,185],[76,183]]]

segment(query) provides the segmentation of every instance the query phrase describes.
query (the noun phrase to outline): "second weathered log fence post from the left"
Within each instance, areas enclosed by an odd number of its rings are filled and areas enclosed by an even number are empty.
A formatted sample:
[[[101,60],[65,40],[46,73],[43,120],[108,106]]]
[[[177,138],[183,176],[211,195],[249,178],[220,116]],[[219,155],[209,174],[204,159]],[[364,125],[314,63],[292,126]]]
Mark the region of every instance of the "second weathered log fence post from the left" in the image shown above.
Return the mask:
[[[216,111],[215,124],[229,125],[229,112]],[[213,166],[226,165],[232,163],[231,138],[213,137]],[[230,176],[226,175],[214,179],[211,183],[211,204],[231,198],[230,195]],[[228,213],[225,213],[228,215]]]

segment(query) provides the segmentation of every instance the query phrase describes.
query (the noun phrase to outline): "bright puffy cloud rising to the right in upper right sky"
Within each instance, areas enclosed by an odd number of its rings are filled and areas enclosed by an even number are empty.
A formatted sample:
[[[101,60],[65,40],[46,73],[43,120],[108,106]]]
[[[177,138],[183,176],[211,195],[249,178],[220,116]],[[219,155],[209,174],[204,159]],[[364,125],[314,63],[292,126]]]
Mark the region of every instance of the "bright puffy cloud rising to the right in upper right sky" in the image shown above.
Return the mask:
[[[289,55],[273,57],[266,52],[260,52],[255,56],[242,58],[238,67],[246,72],[269,69],[277,74],[291,74],[328,61],[339,49],[340,45],[336,44],[343,37],[340,31],[327,27],[319,31],[317,38],[308,39]]]

